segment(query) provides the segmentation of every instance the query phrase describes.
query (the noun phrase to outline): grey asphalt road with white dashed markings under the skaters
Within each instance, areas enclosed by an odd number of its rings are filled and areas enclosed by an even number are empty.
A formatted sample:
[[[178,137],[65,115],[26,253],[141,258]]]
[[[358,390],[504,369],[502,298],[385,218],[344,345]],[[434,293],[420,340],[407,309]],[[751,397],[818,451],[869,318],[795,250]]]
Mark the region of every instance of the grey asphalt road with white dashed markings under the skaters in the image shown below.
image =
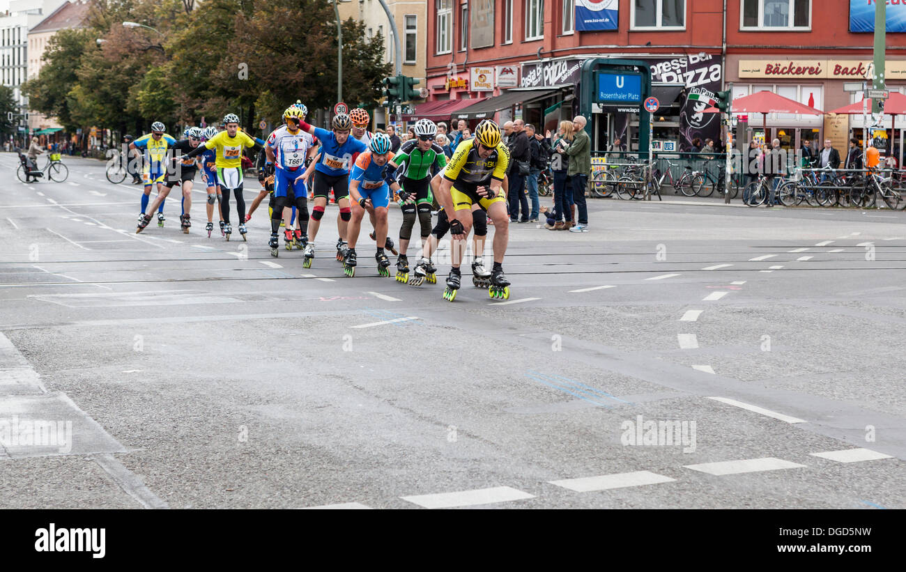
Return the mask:
[[[451,303],[65,161],[0,154],[0,508],[906,508],[906,213],[590,200]]]

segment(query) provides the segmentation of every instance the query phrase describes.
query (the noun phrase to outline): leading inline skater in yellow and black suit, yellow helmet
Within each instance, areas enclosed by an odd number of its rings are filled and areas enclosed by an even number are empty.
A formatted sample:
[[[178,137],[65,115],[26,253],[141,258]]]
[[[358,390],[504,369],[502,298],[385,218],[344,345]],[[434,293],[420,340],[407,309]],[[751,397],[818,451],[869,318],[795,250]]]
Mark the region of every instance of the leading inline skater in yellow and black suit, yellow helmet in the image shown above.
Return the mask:
[[[475,129],[475,138],[459,143],[444,168],[437,198],[450,216],[452,267],[447,277],[444,299],[453,301],[460,287],[459,266],[463,245],[473,226],[472,206],[481,205],[494,221],[494,266],[491,270],[491,298],[509,298],[510,281],[503,271],[506,244],[509,239],[509,217],[506,198],[500,193],[509,166],[509,151],[501,141],[500,128],[484,120]],[[480,190],[479,190],[480,189]]]

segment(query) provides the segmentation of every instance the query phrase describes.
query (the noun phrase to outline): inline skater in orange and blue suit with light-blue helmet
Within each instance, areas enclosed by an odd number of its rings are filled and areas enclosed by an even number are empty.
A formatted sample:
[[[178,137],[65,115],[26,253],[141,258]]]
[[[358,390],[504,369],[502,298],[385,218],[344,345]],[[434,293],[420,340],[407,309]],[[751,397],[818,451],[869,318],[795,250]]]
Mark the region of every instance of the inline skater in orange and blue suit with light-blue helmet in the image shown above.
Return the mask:
[[[343,272],[350,277],[355,275],[355,245],[359,241],[361,219],[366,211],[373,215],[376,221],[374,233],[379,246],[374,258],[378,262],[378,274],[390,276],[390,272],[387,270],[390,260],[381,246],[384,243],[381,238],[386,239],[387,237],[387,206],[390,205],[390,187],[384,181],[382,172],[387,162],[393,158],[390,145],[390,138],[383,133],[378,133],[371,138],[368,150],[355,160],[355,166],[352,167],[349,183],[352,220],[347,227],[348,234],[346,235],[349,248],[343,259]]]

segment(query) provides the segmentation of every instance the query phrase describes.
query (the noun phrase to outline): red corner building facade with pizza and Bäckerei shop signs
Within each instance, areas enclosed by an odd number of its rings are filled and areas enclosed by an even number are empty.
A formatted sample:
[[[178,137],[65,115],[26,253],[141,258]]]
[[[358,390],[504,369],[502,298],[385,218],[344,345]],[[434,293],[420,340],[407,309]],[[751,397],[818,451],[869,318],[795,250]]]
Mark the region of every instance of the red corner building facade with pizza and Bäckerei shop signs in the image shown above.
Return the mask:
[[[843,82],[863,79],[859,75],[872,60],[873,34],[850,32],[854,1],[428,0],[429,100],[495,98],[459,103],[450,119],[474,124],[488,116],[521,117],[550,127],[578,112],[584,60],[642,60],[651,65],[652,94],[660,100],[655,148],[685,150],[694,138],[717,138],[720,129],[718,116],[702,114],[691,93],[713,97],[732,82],[735,97],[769,90],[818,110],[861,97],[843,91]],[[617,7],[615,29],[576,30],[577,2]],[[906,5],[887,9],[891,20]],[[888,88],[904,91],[906,33],[887,34],[886,62]],[[624,144],[638,140],[633,110],[595,105],[592,115],[595,148],[616,137]],[[861,120],[768,116],[766,135],[792,147],[799,138],[826,132],[837,146],[852,128],[861,129]],[[898,124],[906,128],[906,120]],[[754,135],[765,135],[760,117],[750,125],[757,128]]]

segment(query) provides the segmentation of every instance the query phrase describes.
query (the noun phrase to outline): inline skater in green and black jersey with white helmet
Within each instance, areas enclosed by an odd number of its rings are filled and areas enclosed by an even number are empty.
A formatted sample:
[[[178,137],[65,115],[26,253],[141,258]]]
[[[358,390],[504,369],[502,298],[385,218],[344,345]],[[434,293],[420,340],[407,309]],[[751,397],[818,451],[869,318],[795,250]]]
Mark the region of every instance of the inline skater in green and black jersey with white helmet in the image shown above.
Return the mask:
[[[417,139],[403,143],[400,152],[391,158],[384,169],[384,180],[390,185],[390,191],[400,197],[402,225],[400,226],[400,254],[397,257],[397,281],[409,280],[409,258],[406,255],[415,225],[416,213],[421,227],[422,245],[431,234],[431,205],[434,195],[431,193],[431,170],[435,166],[447,166],[447,157],[434,137],[438,126],[430,119],[419,119],[415,124]],[[400,166],[401,188],[393,176]]]

